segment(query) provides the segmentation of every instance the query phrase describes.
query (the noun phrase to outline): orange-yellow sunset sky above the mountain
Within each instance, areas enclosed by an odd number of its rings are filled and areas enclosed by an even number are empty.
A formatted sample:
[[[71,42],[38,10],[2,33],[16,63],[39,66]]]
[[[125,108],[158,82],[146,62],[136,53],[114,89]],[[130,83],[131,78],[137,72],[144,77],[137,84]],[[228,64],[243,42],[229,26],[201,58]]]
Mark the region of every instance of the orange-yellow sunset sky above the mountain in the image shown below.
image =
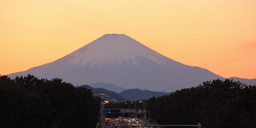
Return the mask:
[[[0,0],[0,74],[107,33],[224,78],[256,78],[256,0]]]

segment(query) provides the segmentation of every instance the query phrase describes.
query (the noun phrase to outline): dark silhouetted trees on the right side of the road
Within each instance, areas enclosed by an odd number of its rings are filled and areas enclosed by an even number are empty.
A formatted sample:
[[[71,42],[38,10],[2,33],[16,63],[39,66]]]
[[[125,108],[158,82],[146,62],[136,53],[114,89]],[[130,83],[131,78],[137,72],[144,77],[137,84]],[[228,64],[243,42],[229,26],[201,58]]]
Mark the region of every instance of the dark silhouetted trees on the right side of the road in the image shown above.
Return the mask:
[[[201,123],[202,128],[256,128],[256,86],[239,81],[207,81],[197,87],[143,101],[146,111],[150,111],[150,118],[160,125]],[[135,104],[126,103],[134,109]],[[136,108],[143,108],[143,103],[135,103]],[[107,107],[128,108],[128,105],[118,103],[105,105]]]

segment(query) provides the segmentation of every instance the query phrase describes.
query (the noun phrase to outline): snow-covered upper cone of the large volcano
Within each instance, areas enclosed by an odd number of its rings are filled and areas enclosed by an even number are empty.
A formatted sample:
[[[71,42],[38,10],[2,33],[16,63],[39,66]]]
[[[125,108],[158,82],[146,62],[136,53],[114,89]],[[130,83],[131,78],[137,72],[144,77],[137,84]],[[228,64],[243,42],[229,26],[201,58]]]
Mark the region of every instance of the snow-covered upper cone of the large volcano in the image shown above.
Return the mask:
[[[178,63],[124,34],[105,34],[57,62],[82,67],[89,64],[91,68],[95,65],[103,67],[130,62],[136,66],[136,57],[145,57],[161,65]]]

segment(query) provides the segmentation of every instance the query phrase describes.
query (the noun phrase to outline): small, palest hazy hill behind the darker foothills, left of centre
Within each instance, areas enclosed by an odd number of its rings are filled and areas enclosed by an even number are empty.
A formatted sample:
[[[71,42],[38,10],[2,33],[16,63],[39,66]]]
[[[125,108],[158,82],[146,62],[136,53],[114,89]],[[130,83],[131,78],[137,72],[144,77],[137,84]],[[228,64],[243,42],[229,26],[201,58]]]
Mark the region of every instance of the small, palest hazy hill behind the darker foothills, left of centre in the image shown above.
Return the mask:
[[[114,91],[116,93],[120,93],[123,90],[126,90],[124,87],[117,87],[114,84],[106,84],[106,83],[102,83],[102,82],[97,82],[94,84],[90,84],[91,87],[93,88],[105,88],[106,90],[111,90]]]

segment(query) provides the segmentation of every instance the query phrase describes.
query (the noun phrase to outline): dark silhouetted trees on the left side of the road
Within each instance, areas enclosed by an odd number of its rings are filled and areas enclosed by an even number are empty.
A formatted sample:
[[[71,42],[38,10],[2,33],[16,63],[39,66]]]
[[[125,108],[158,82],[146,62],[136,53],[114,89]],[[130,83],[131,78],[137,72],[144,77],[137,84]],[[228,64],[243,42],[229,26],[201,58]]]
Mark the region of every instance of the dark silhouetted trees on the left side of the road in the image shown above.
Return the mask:
[[[0,76],[0,128],[95,128],[99,101],[59,78]]]

